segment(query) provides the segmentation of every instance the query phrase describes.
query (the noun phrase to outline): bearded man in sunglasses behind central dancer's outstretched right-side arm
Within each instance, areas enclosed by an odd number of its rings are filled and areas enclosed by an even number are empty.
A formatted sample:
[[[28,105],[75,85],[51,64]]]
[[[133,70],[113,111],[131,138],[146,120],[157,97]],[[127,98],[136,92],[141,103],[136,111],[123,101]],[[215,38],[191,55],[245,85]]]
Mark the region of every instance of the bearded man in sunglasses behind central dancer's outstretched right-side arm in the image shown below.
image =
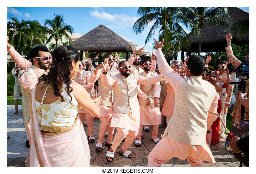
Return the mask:
[[[143,61],[144,71],[139,73],[140,76],[151,77],[157,76],[156,73],[150,71],[151,63],[149,59]],[[137,135],[137,140],[135,141],[135,146],[141,147],[141,135],[143,125],[153,125],[153,131],[151,135],[151,140],[157,144],[160,141],[157,138],[158,126],[161,124],[161,112],[159,109],[159,97],[161,91],[160,82],[155,84],[140,85],[140,90],[143,92],[143,97],[138,97],[140,105],[140,129]],[[145,99],[146,98],[146,99]]]

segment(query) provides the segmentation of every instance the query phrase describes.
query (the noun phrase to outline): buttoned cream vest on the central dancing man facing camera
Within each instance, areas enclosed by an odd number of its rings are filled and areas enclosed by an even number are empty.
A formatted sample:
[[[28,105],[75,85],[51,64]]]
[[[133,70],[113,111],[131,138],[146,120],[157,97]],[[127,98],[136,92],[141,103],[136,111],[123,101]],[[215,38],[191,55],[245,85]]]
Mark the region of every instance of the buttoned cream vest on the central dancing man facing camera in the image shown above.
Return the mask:
[[[140,106],[137,98],[138,77],[130,74],[125,78],[119,73],[115,75],[115,78],[112,111],[128,114],[131,108],[132,114],[139,112]]]

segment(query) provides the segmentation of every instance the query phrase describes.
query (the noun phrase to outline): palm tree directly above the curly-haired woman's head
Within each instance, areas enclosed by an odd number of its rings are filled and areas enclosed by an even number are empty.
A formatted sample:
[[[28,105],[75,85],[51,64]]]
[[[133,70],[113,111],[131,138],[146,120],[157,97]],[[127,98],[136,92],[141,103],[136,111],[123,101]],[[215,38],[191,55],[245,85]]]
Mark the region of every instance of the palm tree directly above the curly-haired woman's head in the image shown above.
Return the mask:
[[[46,43],[50,42],[51,39],[55,39],[56,41],[56,46],[58,45],[58,40],[62,41],[62,37],[65,36],[66,38],[69,38],[69,40],[71,40],[70,35],[72,34],[72,32],[74,31],[74,28],[70,25],[67,25],[66,23],[64,23],[64,18],[63,18],[63,14],[57,14],[55,15],[54,13],[54,19],[45,19],[45,30],[47,32],[47,34],[49,34],[49,39],[47,40]],[[46,25],[49,26],[46,27]],[[68,34],[70,33],[70,35]],[[60,43],[59,43],[60,45]]]

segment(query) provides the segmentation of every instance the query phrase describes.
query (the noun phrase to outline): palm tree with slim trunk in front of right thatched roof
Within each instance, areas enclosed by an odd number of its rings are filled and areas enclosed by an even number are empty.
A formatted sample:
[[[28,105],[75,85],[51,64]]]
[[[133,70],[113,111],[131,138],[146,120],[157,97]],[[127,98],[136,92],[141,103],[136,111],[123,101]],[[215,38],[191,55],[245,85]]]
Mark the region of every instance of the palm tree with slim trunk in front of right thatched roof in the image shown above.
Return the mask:
[[[189,7],[193,10],[187,11],[185,16],[190,18],[197,27],[202,29],[205,22],[210,25],[214,26],[230,26],[230,23],[226,21],[224,18],[229,18],[230,11],[227,7]],[[199,49],[198,55],[201,53],[201,46],[202,46],[202,33],[198,34],[197,27],[192,28],[192,35],[198,36],[199,38]]]

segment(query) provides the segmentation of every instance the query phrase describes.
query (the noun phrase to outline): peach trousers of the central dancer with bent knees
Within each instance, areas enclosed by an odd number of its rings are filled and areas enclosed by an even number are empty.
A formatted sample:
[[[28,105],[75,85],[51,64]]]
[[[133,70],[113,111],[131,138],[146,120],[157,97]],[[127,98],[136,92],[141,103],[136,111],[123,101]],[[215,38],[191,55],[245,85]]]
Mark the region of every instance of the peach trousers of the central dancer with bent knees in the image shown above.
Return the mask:
[[[116,134],[113,140],[113,144],[111,146],[113,151],[116,151],[117,147],[120,145],[122,142],[123,138],[126,137],[123,146],[122,146],[122,151],[126,152],[127,149],[132,145],[133,141],[135,140],[136,136],[138,135],[139,131],[130,131],[128,129],[123,129],[123,128],[116,128]]]

